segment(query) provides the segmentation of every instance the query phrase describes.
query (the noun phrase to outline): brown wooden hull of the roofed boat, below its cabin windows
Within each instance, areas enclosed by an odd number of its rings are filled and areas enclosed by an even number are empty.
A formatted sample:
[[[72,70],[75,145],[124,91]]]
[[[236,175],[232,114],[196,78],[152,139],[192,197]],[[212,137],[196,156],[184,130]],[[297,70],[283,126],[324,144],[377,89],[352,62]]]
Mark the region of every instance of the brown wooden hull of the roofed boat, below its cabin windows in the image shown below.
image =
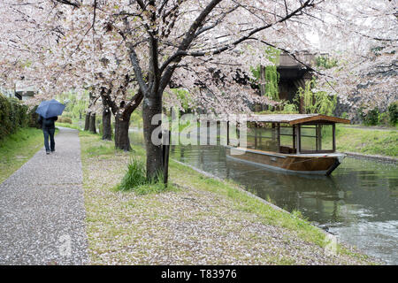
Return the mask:
[[[274,170],[299,174],[330,175],[345,157],[342,154],[293,155],[256,149],[227,147],[227,157]]]

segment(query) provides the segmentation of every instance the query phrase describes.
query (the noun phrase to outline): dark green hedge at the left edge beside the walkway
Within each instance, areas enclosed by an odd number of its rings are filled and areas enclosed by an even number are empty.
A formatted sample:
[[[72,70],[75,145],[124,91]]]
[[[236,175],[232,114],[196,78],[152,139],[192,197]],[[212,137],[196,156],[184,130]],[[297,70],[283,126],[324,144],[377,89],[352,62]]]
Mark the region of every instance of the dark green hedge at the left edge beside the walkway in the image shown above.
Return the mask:
[[[30,124],[27,105],[0,94],[0,140]]]

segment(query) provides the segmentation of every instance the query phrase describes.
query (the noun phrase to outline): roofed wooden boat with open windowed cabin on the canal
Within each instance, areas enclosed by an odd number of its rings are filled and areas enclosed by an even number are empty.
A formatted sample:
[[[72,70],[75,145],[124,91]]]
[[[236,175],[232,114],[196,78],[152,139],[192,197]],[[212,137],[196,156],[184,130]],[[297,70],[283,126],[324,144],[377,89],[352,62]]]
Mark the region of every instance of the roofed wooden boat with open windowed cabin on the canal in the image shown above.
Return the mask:
[[[227,127],[227,157],[274,170],[330,175],[345,157],[336,152],[335,123],[320,114],[253,115],[248,119],[246,147],[233,146],[237,135]]]

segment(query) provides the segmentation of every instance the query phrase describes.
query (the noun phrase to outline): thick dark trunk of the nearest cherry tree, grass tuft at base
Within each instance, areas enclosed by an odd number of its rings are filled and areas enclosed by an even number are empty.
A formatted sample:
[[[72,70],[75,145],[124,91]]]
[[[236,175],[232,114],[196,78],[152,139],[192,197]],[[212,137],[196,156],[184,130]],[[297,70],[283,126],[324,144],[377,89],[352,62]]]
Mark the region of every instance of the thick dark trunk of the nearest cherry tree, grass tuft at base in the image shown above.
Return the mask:
[[[142,104],[143,134],[145,148],[147,149],[147,178],[157,179],[159,173],[163,173],[162,145],[152,142],[152,132],[158,125],[151,125],[152,118],[162,113],[162,98],[145,97]]]

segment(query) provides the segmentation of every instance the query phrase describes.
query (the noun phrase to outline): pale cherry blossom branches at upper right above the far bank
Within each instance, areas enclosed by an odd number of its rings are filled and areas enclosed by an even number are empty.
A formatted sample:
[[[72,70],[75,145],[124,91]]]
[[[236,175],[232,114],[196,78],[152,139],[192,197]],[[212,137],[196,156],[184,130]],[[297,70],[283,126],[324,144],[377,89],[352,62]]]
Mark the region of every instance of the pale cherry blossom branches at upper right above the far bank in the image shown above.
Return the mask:
[[[387,108],[398,100],[397,7],[393,1],[339,1],[318,12],[316,52],[338,64],[318,69],[318,86],[350,105]],[[334,39],[330,40],[331,34]]]

